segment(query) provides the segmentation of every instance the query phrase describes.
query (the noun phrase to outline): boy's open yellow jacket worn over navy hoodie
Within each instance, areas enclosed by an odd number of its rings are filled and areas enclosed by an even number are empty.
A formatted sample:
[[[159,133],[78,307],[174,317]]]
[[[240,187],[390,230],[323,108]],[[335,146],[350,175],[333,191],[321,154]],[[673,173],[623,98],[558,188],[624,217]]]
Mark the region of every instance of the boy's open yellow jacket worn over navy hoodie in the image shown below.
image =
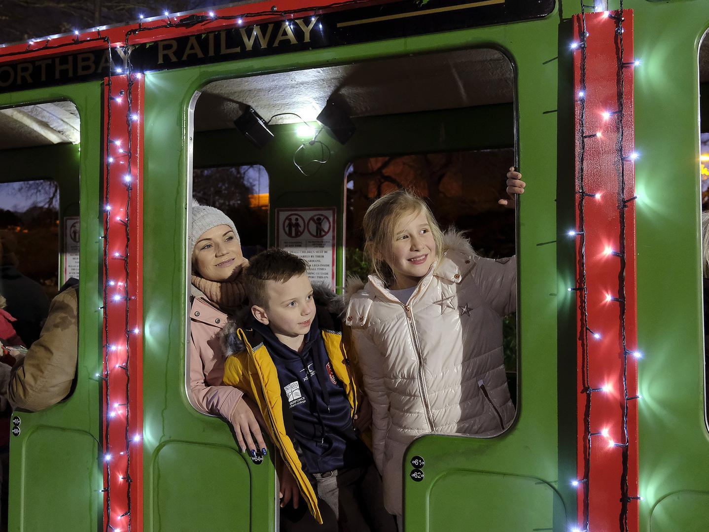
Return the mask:
[[[332,308],[328,309],[319,304],[323,299],[322,292],[316,290],[315,299],[318,325],[330,367],[337,380],[342,383],[350,404],[350,416],[354,416],[360,401],[356,364],[348,357],[345,342],[342,340],[342,325],[337,314],[333,314]],[[277,367],[264,338],[254,328],[239,326],[234,322],[224,328],[222,340],[224,353],[227,355],[223,384],[238,387],[255,401],[267,423],[274,445],[298,482],[311,514],[318,523],[322,523],[316,492],[296,451],[293,420],[284,414],[284,396],[281,393],[283,387],[279,382]],[[369,434],[363,435],[362,439],[369,445]]]

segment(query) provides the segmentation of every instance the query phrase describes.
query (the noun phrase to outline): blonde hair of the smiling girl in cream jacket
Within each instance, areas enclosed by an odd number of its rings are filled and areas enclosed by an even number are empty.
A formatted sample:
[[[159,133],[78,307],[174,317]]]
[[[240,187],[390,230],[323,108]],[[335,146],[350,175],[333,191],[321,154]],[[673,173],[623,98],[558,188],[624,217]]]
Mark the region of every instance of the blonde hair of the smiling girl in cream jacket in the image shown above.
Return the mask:
[[[426,202],[415,192],[407,189],[389,192],[374,201],[364,214],[364,255],[372,265],[372,273],[387,285],[394,282],[393,271],[386,257],[393,250],[396,226],[401,218],[419,213],[426,216],[436,243],[436,262],[440,262],[445,253],[443,232]]]

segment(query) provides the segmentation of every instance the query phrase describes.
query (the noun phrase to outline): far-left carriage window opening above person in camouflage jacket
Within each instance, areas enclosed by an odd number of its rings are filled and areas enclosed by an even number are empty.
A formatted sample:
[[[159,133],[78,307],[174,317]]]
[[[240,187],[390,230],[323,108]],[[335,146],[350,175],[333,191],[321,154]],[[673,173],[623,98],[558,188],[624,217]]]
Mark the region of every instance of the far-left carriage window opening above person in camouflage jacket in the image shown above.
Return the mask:
[[[0,297],[26,347],[79,277],[79,130],[69,101],[0,109]]]

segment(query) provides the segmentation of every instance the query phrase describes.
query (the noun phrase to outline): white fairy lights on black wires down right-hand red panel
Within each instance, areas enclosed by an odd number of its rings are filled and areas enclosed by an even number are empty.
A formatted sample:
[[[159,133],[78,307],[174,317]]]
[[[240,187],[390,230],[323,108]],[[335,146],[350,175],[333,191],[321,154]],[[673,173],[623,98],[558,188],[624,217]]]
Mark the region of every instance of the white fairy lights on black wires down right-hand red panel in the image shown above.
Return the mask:
[[[617,129],[617,142],[616,142],[616,152],[617,152],[617,168],[618,168],[618,216],[620,225],[619,234],[619,245],[618,251],[613,250],[613,248],[607,247],[605,249],[605,255],[614,256],[619,258],[619,279],[620,287],[618,291],[618,296],[613,296],[612,294],[606,294],[606,301],[618,302],[620,305],[620,336],[621,336],[621,358],[623,360],[623,371],[622,371],[622,381],[623,381],[623,411],[621,415],[621,426],[623,440],[620,442],[615,442],[610,438],[610,433],[608,428],[603,428],[601,431],[593,431],[591,425],[591,405],[593,402],[593,394],[597,392],[608,392],[610,387],[608,384],[603,384],[598,386],[594,384],[591,378],[590,370],[590,357],[588,351],[588,340],[589,334],[593,336],[596,340],[601,339],[601,333],[598,331],[593,331],[589,324],[588,316],[588,284],[587,284],[587,271],[586,271],[586,217],[584,215],[584,207],[586,199],[594,197],[596,199],[601,198],[600,192],[588,192],[586,189],[586,172],[584,168],[584,162],[586,160],[586,142],[591,141],[593,138],[601,138],[601,131],[596,131],[593,133],[586,133],[586,99],[587,99],[587,87],[586,87],[586,62],[587,57],[587,39],[588,31],[586,26],[586,14],[588,11],[596,11],[593,7],[586,6],[584,1],[581,0],[581,32],[579,42],[574,42],[571,44],[572,50],[580,50],[581,52],[581,67],[580,67],[580,84],[581,90],[576,94],[576,99],[579,102],[579,134],[578,143],[580,146],[579,156],[578,156],[578,172],[576,182],[579,185],[577,189],[577,194],[579,195],[578,202],[578,214],[579,214],[579,226],[576,230],[569,231],[569,236],[574,238],[579,238],[578,248],[579,248],[579,278],[577,279],[576,286],[569,288],[569,292],[579,292],[579,314],[581,318],[581,358],[582,358],[582,385],[583,389],[581,393],[586,397],[586,404],[584,407],[584,471],[583,477],[580,479],[575,479],[571,482],[574,487],[583,489],[583,509],[582,509],[582,522],[580,526],[575,526],[572,528],[574,532],[590,532],[591,523],[590,521],[590,495],[591,495],[591,449],[593,445],[593,440],[601,436],[608,439],[610,447],[621,448],[621,466],[622,473],[620,478],[620,490],[621,490],[621,510],[620,510],[620,523],[623,531],[628,531],[628,504],[634,500],[642,500],[642,497],[637,495],[630,495],[628,486],[628,452],[630,448],[630,436],[628,433],[627,420],[628,420],[628,405],[630,401],[641,399],[640,394],[630,395],[627,388],[627,375],[628,375],[628,357],[632,356],[635,360],[642,358],[642,353],[640,351],[632,351],[627,348],[627,337],[626,337],[626,294],[625,294],[625,284],[626,284],[626,270],[627,270],[627,260],[626,260],[626,231],[627,231],[627,221],[625,215],[625,209],[630,204],[630,202],[635,201],[637,196],[632,196],[626,198],[625,190],[625,165],[631,164],[638,157],[635,151],[631,153],[624,153],[623,140],[624,140],[624,126],[623,119],[625,116],[625,75],[623,70],[627,67],[635,67],[640,65],[640,61],[634,60],[632,62],[624,61],[625,49],[623,46],[623,22],[624,10],[623,10],[623,0],[620,0],[620,6],[618,11],[604,11],[603,16],[605,18],[610,18],[615,21],[615,43],[616,43],[616,55],[618,57],[618,109],[615,111],[604,111],[603,118],[609,120],[611,117],[615,117],[615,127]]]

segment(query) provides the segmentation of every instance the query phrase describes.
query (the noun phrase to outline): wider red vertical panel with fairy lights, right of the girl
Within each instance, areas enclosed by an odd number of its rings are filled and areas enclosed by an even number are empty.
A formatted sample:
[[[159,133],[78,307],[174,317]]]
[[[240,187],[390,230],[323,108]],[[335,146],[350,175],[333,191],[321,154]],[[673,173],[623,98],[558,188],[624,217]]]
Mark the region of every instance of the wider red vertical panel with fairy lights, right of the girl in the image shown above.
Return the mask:
[[[579,259],[574,287],[578,529],[594,532],[639,528],[638,501],[632,499],[637,497],[639,401],[632,355],[637,351],[632,11],[626,9],[623,17],[621,24],[619,11],[574,16],[576,232],[582,232],[571,236]],[[617,113],[621,106],[623,113]]]

